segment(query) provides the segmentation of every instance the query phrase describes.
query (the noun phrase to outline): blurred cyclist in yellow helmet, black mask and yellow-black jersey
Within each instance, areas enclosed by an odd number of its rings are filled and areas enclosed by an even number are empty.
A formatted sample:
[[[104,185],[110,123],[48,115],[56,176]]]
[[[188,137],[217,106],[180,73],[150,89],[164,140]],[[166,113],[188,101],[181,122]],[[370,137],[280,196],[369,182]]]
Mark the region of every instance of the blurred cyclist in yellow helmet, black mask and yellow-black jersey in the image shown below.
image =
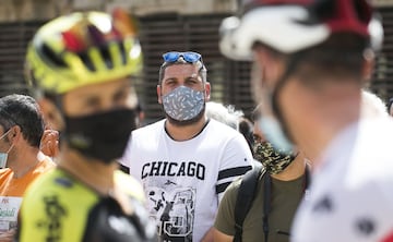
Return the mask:
[[[136,125],[141,59],[120,9],[71,13],[37,31],[26,74],[61,147],[57,168],[25,193],[15,241],[155,241],[143,189],[117,162]]]

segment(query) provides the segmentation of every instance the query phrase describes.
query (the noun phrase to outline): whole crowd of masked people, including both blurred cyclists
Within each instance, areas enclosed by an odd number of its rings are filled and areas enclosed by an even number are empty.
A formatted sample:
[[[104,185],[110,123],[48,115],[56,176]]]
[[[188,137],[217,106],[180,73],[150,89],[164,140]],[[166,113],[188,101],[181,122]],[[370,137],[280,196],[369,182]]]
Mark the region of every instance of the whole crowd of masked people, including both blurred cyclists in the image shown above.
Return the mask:
[[[129,13],[49,21],[27,47],[32,96],[0,97],[0,242],[392,242],[372,20],[367,0],[245,1],[219,48],[253,61],[252,118],[210,100],[201,53],[169,51],[150,124]]]

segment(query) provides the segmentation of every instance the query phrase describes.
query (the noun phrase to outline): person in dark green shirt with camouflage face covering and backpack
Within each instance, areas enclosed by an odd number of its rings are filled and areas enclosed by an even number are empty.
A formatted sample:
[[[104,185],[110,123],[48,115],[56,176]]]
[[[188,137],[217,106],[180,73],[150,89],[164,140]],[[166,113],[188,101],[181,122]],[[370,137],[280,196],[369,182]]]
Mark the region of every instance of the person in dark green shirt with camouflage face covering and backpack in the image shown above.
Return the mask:
[[[241,182],[248,176],[234,181],[227,187],[214,223],[216,242],[288,242],[294,215],[307,192],[310,181],[305,155],[295,150],[283,154],[275,149],[260,130],[259,118],[257,107],[253,113],[252,149],[254,159],[260,161],[263,168],[259,169],[258,176],[254,177],[258,180],[252,191],[253,199],[246,209],[247,215],[242,225],[236,225],[236,207],[239,206],[237,203],[245,199],[239,197],[239,190],[249,189],[241,186]],[[239,226],[242,227],[241,233],[237,234]]]

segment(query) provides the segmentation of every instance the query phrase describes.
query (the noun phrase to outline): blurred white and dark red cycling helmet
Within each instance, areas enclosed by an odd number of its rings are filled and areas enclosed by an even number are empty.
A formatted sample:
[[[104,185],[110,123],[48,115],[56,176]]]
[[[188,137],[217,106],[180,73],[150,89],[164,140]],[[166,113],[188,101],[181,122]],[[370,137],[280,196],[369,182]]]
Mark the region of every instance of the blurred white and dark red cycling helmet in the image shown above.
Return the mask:
[[[370,37],[372,10],[367,0],[248,0],[241,17],[222,22],[219,48],[235,60],[252,59],[252,47],[262,43],[279,52],[294,53],[317,46],[333,33]],[[373,22],[380,47],[383,31]],[[381,34],[382,33],[382,34]]]

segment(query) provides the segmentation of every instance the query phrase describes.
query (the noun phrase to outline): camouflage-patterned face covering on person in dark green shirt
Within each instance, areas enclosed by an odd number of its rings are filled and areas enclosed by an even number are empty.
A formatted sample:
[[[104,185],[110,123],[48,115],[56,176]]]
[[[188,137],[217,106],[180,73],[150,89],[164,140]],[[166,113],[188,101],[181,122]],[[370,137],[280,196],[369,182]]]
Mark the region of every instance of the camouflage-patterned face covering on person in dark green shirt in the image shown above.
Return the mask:
[[[253,156],[262,162],[270,174],[278,174],[295,159],[293,153],[282,154],[269,142],[257,142],[253,145]]]

